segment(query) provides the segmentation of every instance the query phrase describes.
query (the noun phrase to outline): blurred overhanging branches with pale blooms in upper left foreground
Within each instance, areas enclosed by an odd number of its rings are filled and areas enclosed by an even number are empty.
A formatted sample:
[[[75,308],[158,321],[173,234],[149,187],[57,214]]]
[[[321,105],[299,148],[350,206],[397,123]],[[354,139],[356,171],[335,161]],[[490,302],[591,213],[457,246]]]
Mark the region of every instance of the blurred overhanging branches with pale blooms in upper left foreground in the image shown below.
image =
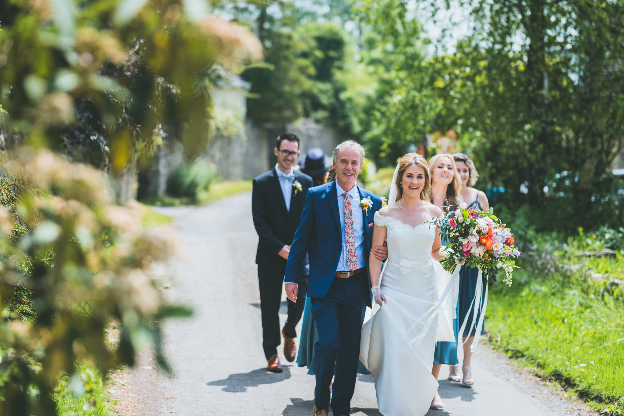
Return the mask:
[[[208,16],[203,2],[144,3],[0,6],[4,128],[106,168],[122,185],[119,201],[158,138],[179,139],[188,156],[205,148],[212,65],[261,56],[251,32]]]

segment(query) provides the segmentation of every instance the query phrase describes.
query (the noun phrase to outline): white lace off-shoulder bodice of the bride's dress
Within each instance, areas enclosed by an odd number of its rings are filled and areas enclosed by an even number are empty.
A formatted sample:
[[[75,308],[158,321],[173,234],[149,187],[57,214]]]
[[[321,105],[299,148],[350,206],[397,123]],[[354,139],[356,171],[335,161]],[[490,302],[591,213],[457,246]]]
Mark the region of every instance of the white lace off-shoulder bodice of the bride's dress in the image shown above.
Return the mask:
[[[388,242],[388,260],[400,261],[401,258],[416,262],[423,257],[431,257],[431,248],[436,237],[436,226],[420,224],[412,227],[400,220],[375,213],[375,224],[386,227]]]

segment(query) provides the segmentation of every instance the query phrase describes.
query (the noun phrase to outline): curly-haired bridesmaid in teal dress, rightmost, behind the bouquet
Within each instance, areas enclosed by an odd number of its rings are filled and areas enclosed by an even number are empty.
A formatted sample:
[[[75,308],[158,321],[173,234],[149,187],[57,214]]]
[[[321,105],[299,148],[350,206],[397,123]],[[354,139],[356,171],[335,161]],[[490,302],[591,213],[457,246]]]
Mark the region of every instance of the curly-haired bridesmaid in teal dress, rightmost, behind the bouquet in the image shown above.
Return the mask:
[[[461,197],[464,201],[472,201],[468,205],[469,208],[479,209],[487,211],[490,209],[489,202],[484,192],[479,191],[472,187],[479,177],[477,169],[474,167],[472,160],[463,153],[456,153],[453,155],[459,177],[462,181],[462,189],[460,191]],[[462,266],[459,272],[459,299],[457,301],[457,318],[458,322],[464,322],[466,316],[468,316],[468,324],[462,334],[462,341],[464,341],[464,362],[462,364],[462,385],[466,387],[472,387],[474,381],[472,380],[472,374],[470,374],[470,359],[472,359],[472,351],[470,351],[470,344],[476,335],[476,324],[470,328],[470,323],[474,318],[475,323],[479,321],[482,308],[477,311],[477,316],[473,316],[474,312],[470,308],[470,303],[475,296],[475,286],[477,285],[477,278],[479,278],[479,269],[476,267],[464,267]],[[480,305],[483,305],[485,299],[485,281],[482,281],[483,291]],[[475,300],[476,302],[477,300]],[[481,328],[480,335],[483,335],[484,330]]]

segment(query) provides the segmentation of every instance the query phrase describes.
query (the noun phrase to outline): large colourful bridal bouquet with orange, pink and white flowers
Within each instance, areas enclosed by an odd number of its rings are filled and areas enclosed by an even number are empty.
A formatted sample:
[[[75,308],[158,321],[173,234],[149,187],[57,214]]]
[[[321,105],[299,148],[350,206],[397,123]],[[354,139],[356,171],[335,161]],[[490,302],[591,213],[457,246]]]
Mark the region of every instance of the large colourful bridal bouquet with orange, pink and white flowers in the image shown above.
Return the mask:
[[[446,235],[449,254],[440,260],[442,268],[453,273],[458,264],[480,268],[488,285],[496,281],[496,275],[505,272],[504,282],[511,286],[515,258],[520,252],[514,246],[511,230],[489,211],[467,209],[461,204],[446,216],[440,215],[427,222],[436,224],[441,235]]]

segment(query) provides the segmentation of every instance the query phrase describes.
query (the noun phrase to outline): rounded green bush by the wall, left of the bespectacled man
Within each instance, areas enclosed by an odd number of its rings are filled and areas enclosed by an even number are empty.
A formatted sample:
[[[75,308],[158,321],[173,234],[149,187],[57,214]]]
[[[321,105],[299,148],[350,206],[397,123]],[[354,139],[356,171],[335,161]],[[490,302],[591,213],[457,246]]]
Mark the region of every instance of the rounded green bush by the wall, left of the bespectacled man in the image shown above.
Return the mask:
[[[207,192],[217,179],[215,169],[206,161],[197,160],[180,164],[167,178],[167,194],[190,198],[197,202],[202,192]]]

